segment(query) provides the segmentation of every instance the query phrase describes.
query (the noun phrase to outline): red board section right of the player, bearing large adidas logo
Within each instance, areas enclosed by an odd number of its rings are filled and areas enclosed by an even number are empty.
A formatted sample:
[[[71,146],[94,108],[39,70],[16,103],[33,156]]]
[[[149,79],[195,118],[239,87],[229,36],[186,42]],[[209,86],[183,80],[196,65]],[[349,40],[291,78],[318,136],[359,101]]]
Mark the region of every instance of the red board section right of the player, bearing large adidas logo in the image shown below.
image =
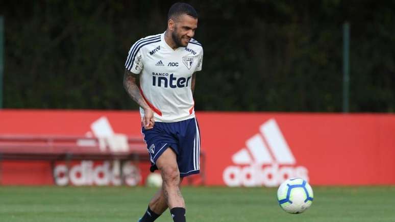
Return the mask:
[[[210,184],[276,186],[294,176],[314,185],[395,184],[394,115],[207,113],[201,117],[202,141],[210,145],[202,145],[210,149]]]

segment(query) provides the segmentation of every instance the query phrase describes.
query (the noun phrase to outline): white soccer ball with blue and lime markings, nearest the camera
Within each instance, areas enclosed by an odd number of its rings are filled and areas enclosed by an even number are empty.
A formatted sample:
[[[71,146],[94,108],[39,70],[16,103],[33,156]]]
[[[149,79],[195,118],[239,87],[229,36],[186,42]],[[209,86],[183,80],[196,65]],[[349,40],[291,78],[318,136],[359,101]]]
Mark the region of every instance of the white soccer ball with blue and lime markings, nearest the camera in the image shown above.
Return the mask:
[[[277,200],[286,212],[303,213],[313,202],[313,189],[302,178],[291,178],[280,185]]]

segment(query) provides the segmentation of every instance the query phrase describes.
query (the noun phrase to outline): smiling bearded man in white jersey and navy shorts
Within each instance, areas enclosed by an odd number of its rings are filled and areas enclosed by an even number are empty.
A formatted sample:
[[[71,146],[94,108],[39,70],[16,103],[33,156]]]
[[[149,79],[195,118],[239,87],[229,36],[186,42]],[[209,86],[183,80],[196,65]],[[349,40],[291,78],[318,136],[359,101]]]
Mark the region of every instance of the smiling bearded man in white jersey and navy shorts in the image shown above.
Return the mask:
[[[196,28],[192,6],[172,5],[166,31],[134,43],[125,64],[124,86],[140,106],[150,170],[160,169],[163,179],[141,222],[154,221],[167,208],[174,221],[185,221],[180,184],[199,174],[200,133],[192,93],[203,48],[192,39]]]

